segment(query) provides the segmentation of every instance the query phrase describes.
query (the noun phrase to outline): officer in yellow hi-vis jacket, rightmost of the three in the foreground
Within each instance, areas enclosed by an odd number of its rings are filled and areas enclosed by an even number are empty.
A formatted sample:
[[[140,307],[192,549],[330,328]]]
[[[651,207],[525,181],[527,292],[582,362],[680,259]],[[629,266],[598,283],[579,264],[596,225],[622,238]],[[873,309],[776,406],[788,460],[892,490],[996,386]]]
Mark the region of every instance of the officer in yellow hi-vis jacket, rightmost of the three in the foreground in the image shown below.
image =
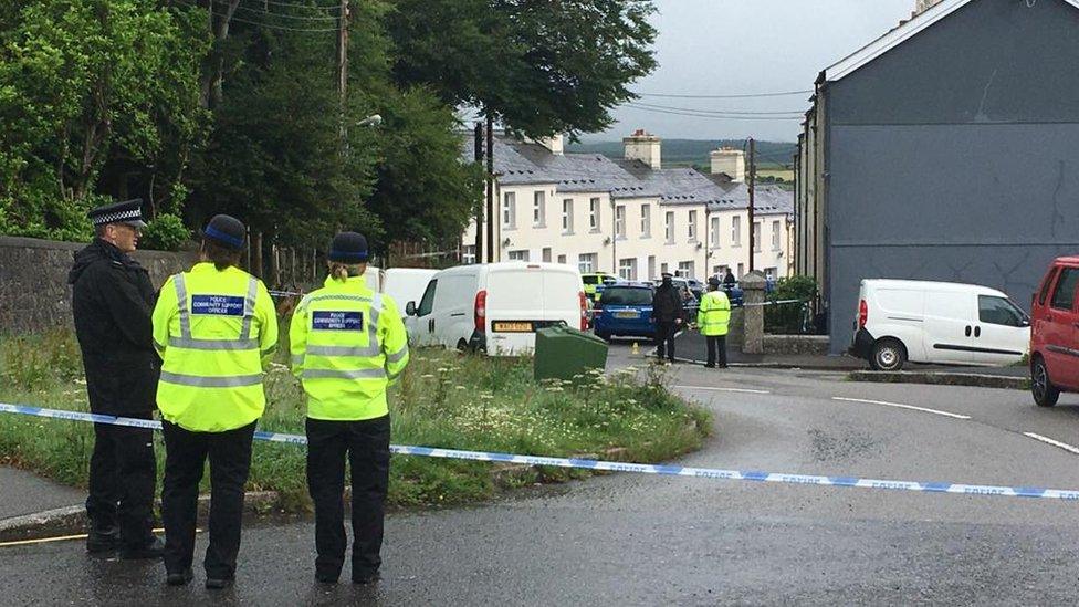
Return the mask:
[[[293,373],[307,393],[307,485],[315,503],[315,578],[334,584],[345,562],[345,454],[353,484],[353,582],[378,578],[389,484],[386,388],[408,364],[397,303],[364,280],[367,239],[334,238],[325,286],[304,296],[289,333]]]

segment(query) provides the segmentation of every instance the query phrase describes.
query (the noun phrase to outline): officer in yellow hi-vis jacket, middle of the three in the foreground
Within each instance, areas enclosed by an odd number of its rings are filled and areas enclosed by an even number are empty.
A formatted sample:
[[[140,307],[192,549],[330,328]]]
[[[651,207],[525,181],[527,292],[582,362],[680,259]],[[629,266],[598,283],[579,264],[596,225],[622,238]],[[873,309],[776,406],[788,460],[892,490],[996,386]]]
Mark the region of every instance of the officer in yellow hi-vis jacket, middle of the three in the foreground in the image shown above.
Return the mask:
[[[219,214],[203,230],[199,263],[171,276],[154,308],[161,353],[157,405],[165,433],[165,569],[169,585],[192,578],[199,481],[210,459],[206,587],[235,576],[243,485],[255,420],[265,409],[262,370],[277,343],[277,317],[262,281],[237,268],[244,227]]]

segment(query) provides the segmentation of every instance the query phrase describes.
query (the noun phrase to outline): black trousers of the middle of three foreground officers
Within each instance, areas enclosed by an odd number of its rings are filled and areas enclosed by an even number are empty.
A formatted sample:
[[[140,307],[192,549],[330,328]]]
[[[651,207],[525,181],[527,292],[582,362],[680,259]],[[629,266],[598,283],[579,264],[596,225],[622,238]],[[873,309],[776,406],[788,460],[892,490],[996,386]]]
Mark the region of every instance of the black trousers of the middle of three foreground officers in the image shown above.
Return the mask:
[[[210,545],[202,566],[206,576],[231,579],[240,552],[243,485],[251,470],[254,422],[227,432],[192,432],[161,421],[165,433],[165,486],[161,520],[165,523],[165,568],[179,573],[195,558],[199,481],[210,460]]]

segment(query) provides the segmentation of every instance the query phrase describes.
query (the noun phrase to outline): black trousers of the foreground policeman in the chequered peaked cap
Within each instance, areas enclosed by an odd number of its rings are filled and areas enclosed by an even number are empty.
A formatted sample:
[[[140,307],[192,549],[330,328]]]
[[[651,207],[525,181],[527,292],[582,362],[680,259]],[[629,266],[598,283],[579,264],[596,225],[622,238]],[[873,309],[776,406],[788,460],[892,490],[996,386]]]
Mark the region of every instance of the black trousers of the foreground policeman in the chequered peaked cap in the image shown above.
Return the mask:
[[[123,417],[153,419],[150,411]],[[86,514],[96,530],[119,525],[121,541],[143,546],[154,538],[154,430],[94,425]]]

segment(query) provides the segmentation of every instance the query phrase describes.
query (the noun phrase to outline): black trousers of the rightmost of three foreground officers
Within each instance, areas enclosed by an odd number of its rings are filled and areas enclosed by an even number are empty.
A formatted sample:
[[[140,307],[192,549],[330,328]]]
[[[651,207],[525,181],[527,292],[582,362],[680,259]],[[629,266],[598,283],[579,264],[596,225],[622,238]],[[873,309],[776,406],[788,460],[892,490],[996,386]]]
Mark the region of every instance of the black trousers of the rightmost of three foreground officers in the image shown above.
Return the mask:
[[[315,502],[316,574],[336,577],[345,564],[345,457],[353,482],[353,578],[383,564],[383,520],[389,486],[389,416],[363,421],[307,418],[307,488]]]

